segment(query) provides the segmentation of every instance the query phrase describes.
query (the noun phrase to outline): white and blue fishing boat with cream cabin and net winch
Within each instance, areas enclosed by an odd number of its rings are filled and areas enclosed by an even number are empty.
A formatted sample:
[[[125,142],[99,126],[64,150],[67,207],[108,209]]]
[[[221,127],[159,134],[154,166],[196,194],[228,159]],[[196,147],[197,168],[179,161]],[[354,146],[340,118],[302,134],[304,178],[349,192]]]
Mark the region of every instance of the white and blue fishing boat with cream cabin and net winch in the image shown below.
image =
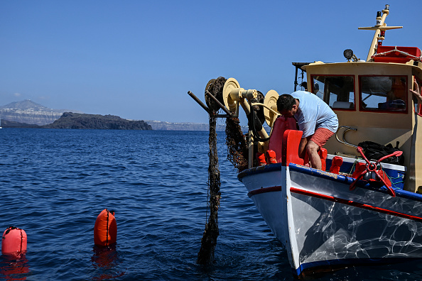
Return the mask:
[[[422,258],[422,111],[409,92],[422,85],[421,50],[383,45],[387,30],[401,28],[386,26],[388,14],[386,5],[375,26],[359,28],[374,31],[367,60],[345,50],[345,62],[293,63],[296,77],[306,72],[302,86],[339,120],[337,133],[319,152],[322,170],[299,157],[302,131],[278,113],[276,91],[262,101],[233,78],[221,97],[206,87],[205,99],[226,116],[238,116],[239,108],[248,116],[263,111],[262,123],[271,131],[256,126],[260,118],[249,118],[248,167],[237,177],[298,277]],[[296,79],[295,90],[298,85]],[[369,142],[389,153],[369,156],[372,148],[363,145]]]

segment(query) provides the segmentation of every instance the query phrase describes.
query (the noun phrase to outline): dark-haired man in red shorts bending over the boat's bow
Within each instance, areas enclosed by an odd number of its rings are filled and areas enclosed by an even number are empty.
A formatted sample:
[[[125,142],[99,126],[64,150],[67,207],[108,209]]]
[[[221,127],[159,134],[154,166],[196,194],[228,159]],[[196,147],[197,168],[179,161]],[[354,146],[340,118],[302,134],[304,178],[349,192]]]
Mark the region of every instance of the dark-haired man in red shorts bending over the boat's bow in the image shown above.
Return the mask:
[[[277,109],[283,116],[298,121],[299,130],[303,131],[299,156],[305,158],[307,152],[311,167],[321,170],[318,150],[337,131],[337,115],[322,99],[305,91],[282,94],[277,99]]]

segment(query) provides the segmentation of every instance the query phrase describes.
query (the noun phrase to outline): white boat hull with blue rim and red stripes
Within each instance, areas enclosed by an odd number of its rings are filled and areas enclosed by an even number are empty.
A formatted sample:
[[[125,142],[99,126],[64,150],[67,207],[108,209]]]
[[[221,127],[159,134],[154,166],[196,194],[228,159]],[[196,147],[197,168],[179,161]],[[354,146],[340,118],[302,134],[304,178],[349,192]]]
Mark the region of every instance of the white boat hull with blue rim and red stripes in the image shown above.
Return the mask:
[[[249,197],[283,243],[297,275],[305,270],[422,258],[422,196],[301,165],[241,172]]]

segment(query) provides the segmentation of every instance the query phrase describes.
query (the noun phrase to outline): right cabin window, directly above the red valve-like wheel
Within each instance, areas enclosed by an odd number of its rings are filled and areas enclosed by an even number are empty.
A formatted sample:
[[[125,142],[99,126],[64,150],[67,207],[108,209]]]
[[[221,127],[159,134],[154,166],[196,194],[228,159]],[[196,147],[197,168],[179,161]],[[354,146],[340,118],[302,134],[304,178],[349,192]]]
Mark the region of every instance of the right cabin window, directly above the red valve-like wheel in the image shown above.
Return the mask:
[[[407,76],[359,76],[362,111],[406,111]]]

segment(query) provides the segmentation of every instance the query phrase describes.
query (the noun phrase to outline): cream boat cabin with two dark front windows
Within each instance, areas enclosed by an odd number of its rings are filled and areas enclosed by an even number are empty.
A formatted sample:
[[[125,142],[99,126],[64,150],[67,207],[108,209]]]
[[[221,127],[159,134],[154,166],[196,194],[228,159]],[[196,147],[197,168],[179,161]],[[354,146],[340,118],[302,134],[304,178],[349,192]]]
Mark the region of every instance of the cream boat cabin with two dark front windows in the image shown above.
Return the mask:
[[[399,142],[407,169],[404,189],[416,192],[422,189],[422,177],[416,172],[422,168],[422,146],[416,145],[422,138],[422,128],[418,130],[422,112],[409,89],[415,80],[422,85],[422,63],[406,57],[409,49],[405,53],[401,47],[383,47],[373,62],[314,62],[302,69],[307,73],[308,90],[323,99],[339,119],[336,137],[325,145],[328,153],[358,156],[353,145],[363,141],[394,147]],[[411,51],[421,55],[418,48]]]

